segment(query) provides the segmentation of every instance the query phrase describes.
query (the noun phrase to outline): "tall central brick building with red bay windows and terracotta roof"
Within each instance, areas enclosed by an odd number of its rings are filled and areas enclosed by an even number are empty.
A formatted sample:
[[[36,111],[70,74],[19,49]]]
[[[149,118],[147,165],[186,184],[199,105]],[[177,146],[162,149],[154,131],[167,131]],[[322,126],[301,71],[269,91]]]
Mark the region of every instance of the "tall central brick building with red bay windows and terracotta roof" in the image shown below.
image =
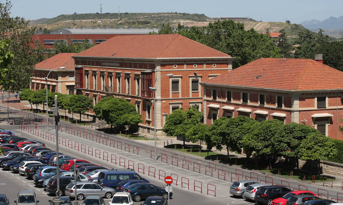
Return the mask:
[[[73,58],[77,93],[91,97],[94,104],[108,96],[125,98],[142,115],[139,131],[143,133],[154,134],[149,87],[156,87],[157,135],[174,109],[196,105],[200,110],[199,83],[231,70],[234,59],[178,34],[116,36]],[[168,73],[173,76],[163,76]]]

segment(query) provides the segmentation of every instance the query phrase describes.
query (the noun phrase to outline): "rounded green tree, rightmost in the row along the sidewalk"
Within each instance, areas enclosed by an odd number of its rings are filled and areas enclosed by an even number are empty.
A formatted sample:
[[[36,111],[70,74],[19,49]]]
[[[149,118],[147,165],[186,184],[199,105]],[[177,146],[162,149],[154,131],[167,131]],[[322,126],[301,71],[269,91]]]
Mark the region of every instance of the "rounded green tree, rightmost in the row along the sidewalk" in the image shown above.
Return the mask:
[[[337,153],[334,145],[335,143],[330,137],[320,133],[312,133],[301,140],[299,145],[300,159],[317,161],[320,172],[320,160],[328,160],[329,157]]]

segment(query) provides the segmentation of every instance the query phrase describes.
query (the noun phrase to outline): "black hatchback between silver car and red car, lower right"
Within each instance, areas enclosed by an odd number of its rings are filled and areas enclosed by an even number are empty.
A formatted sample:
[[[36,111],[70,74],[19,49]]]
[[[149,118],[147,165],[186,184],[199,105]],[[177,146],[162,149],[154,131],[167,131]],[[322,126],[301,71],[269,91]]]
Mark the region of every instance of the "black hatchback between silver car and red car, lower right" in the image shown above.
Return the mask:
[[[260,187],[255,194],[255,201],[259,204],[270,205],[276,198],[282,197],[292,190],[284,186],[263,186]]]

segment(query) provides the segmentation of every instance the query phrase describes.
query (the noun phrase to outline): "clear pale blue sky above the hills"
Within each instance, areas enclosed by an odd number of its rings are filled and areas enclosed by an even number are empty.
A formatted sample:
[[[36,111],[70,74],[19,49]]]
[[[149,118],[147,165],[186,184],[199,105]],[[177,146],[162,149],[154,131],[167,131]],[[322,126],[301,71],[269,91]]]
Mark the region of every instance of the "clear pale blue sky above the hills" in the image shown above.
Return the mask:
[[[5,0],[0,0],[4,3]],[[343,15],[343,0],[12,0],[11,16],[25,19],[53,18],[61,14],[100,13],[198,13],[209,17],[249,17],[263,22],[299,24]]]

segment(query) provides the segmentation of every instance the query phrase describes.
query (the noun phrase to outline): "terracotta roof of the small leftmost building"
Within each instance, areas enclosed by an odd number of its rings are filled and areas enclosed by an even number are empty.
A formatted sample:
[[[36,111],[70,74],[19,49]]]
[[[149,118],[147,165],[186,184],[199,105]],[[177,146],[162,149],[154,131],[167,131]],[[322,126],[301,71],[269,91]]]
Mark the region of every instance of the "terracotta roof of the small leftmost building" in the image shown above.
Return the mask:
[[[59,53],[56,54],[42,62],[37,63],[34,65],[35,68],[43,68],[43,69],[54,69],[58,67],[66,67],[65,69],[74,69],[74,59],[71,56],[76,55],[77,53]],[[60,68],[56,69],[59,70]]]

